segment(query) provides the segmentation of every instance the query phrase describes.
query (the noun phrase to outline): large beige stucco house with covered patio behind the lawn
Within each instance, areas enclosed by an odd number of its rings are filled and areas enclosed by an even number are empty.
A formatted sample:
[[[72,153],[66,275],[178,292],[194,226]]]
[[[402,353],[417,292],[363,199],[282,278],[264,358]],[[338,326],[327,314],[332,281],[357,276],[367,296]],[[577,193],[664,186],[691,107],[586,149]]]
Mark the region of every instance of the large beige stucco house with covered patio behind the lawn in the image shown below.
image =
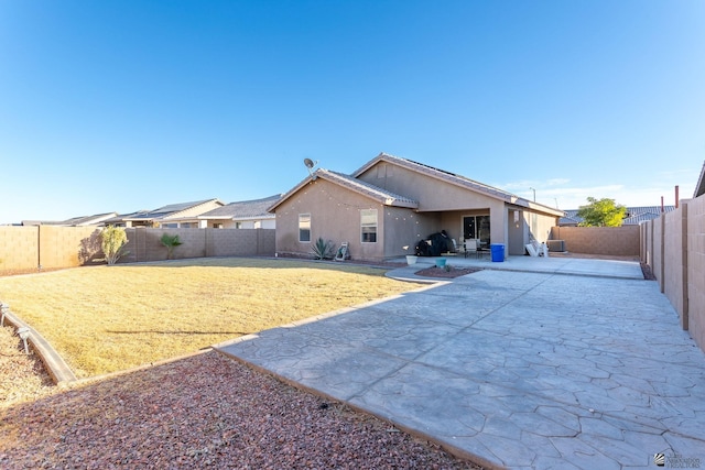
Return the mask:
[[[412,254],[445,230],[458,247],[479,239],[524,254],[547,240],[564,212],[454,173],[386,153],[351,175],[318,168],[270,208],[276,215],[276,252],[308,255],[317,238],[349,243],[357,260]],[[403,247],[408,247],[405,251]]]

